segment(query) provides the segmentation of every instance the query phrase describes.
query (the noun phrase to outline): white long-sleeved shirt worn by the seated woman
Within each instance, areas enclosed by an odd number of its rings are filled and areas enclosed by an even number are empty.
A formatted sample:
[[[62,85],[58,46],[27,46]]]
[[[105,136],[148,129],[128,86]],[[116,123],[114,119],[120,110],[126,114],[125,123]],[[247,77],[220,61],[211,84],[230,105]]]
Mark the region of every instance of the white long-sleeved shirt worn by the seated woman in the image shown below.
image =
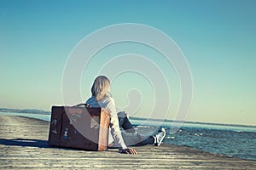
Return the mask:
[[[92,96],[90,99],[86,101],[86,104],[90,105],[91,107],[106,108],[108,109],[108,111],[110,111],[111,119],[109,123],[109,131],[112,135],[108,135],[108,144],[112,144],[114,142],[114,145],[118,145],[122,150],[125,150],[127,146],[124,142],[124,139],[119,128],[119,119],[117,116],[114,99],[109,97],[97,101],[96,98]]]

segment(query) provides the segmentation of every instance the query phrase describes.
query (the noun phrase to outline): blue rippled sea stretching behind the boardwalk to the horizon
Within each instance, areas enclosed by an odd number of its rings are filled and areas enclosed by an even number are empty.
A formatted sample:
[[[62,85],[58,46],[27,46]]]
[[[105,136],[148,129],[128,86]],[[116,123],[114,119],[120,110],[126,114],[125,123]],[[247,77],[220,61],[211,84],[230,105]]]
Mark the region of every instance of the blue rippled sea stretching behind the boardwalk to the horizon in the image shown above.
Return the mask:
[[[49,122],[49,114],[0,112],[1,115],[26,116]],[[167,144],[188,146],[224,156],[256,161],[256,127],[201,122],[184,122],[176,133],[170,133],[171,121],[132,118],[131,123],[139,133],[150,135],[159,127],[166,128]]]

